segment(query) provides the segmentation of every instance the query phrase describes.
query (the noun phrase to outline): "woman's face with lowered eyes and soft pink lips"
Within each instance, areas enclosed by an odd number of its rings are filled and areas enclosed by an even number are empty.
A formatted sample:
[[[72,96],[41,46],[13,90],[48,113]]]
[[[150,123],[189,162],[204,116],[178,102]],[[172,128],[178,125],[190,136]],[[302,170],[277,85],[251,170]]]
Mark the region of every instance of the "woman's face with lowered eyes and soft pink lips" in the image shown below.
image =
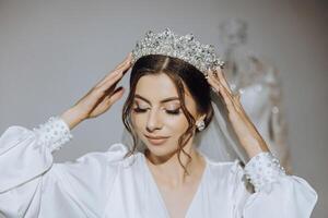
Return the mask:
[[[185,88],[185,105],[197,120],[196,102]],[[173,81],[164,73],[139,78],[131,111],[138,137],[155,156],[172,155],[178,148],[178,138],[187,130],[188,121],[180,108]],[[150,137],[161,137],[152,140]],[[190,146],[192,138],[189,140]],[[186,145],[187,146],[187,145]]]

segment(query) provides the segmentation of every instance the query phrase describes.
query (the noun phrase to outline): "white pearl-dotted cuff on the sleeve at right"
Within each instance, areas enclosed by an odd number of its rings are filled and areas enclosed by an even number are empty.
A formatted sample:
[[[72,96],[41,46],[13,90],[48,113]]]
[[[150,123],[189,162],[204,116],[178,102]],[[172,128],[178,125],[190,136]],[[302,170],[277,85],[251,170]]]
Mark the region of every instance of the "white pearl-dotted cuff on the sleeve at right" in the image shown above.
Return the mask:
[[[277,182],[279,177],[285,175],[285,170],[280,166],[279,159],[271,153],[259,153],[246,164],[244,169],[255,192],[261,190],[270,192],[272,183]]]

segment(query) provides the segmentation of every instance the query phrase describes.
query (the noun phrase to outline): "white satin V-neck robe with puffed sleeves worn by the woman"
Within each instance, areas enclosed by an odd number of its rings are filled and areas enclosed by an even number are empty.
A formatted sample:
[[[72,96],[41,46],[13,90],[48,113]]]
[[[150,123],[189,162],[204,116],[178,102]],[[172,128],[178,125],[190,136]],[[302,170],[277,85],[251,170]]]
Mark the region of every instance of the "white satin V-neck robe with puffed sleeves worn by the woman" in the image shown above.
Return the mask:
[[[12,125],[4,131],[0,137],[0,214],[14,218],[169,217],[142,153],[124,159],[127,147],[117,143],[105,153],[54,164],[52,153],[71,137],[59,117],[37,129]],[[304,179],[285,174],[270,153],[253,157],[245,168],[238,160],[206,159],[187,218],[311,217],[317,193]],[[246,190],[244,175],[255,193]]]

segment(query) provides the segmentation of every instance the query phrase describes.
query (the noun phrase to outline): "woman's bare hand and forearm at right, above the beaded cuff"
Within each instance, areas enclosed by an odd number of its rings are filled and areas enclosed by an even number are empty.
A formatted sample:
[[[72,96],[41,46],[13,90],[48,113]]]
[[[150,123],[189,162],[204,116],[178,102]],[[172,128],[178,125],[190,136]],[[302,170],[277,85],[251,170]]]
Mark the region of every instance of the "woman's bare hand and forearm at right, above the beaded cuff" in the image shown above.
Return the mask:
[[[260,152],[268,152],[269,148],[266,142],[258,133],[241,104],[241,96],[233,95],[222,69],[218,68],[215,71],[209,71],[207,80],[214,93],[223,99],[227,109],[229,119],[249,157],[251,158]]]

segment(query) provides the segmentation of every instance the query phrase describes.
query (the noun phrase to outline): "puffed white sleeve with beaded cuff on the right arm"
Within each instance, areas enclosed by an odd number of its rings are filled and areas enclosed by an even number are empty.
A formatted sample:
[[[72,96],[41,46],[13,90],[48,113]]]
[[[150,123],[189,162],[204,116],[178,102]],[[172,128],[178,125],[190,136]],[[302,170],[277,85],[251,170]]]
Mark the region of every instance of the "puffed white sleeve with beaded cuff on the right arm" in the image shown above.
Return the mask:
[[[306,180],[286,174],[277,157],[260,153],[235,173],[234,218],[309,218],[317,202]],[[244,175],[255,192],[246,190]]]

